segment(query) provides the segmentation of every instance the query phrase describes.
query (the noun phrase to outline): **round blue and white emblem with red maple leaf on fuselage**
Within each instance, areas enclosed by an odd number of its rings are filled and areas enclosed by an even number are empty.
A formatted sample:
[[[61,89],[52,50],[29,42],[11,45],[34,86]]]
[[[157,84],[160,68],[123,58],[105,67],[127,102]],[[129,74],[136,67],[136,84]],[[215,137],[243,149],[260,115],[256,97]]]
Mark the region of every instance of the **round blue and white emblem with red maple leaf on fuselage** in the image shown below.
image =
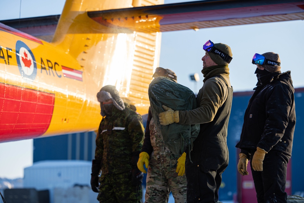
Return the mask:
[[[22,78],[34,80],[37,75],[37,65],[33,52],[22,41],[16,42],[16,58]]]

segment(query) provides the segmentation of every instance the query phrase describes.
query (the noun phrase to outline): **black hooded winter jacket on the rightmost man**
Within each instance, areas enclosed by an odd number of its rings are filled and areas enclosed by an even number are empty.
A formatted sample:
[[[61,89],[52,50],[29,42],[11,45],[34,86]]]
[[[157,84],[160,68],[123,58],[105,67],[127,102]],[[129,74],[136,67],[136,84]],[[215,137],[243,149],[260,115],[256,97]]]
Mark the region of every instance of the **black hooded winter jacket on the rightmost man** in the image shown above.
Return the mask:
[[[294,88],[290,71],[260,77],[244,115],[240,142],[236,147],[250,154],[260,147],[291,156],[295,131]],[[245,151],[244,151],[245,150]]]

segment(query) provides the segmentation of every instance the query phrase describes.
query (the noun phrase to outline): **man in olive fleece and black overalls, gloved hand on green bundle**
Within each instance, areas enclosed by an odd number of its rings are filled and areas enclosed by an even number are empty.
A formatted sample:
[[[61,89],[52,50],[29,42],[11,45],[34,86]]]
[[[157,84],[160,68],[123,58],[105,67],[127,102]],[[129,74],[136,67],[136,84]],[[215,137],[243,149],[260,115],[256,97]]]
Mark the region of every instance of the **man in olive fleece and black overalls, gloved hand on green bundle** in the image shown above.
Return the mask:
[[[159,114],[162,125],[200,124],[198,137],[186,155],[187,203],[217,202],[222,173],[228,166],[227,128],[233,89],[228,65],[232,52],[228,45],[207,41],[202,58],[204,85],[196,101],[198,108],[174,111],[163,105]],[[187,149],[186,149],[187,151]]]

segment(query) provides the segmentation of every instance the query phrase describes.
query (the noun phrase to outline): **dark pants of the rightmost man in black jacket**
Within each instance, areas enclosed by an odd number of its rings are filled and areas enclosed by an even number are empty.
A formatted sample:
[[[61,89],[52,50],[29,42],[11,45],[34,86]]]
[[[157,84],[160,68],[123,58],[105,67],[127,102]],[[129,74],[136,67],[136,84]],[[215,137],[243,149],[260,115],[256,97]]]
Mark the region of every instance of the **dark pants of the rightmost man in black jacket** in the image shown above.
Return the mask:
[[[254,155],[251,152],[250,160]],[[250,162],[258,203],[287,203],[285,192],[287,164],[291,156],[270,150],[263,161],[263,171],[254,171]]]

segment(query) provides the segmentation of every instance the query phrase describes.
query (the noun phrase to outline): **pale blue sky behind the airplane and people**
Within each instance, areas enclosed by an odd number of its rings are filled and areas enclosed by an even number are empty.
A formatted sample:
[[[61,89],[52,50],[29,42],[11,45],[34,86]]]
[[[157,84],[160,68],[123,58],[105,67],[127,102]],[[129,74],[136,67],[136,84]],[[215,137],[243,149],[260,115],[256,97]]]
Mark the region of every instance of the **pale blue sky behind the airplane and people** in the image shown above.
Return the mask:
[[[21,2],[21,11],[20,11]],[[0,20],[60,14],[64,0],[10,0],[1,1]],[[185,2],[165,0],[165,3]],[[34,6],[33,6],[34,5]],[[56,5],[56,6],[55,6]],[[304,21],[286,21],[241,26],[206,28],[199,31],[185,30],[162,33],[160,66],[173,70],[178,82],[194,93],[203,85],[202,45],[207,40],[224,43],[231,47],[233,60],[230,67],[230,82],[234,92],[249,91],[257,79],[251,64],[255,53],[273,51],[281,58],[281,71],[290,70],[295,88],[304,87]],[[200,81],[190,80],[198,73]],[[33,140],[0,144],[0,177],[23,177],[24,167],[33,164]]]

